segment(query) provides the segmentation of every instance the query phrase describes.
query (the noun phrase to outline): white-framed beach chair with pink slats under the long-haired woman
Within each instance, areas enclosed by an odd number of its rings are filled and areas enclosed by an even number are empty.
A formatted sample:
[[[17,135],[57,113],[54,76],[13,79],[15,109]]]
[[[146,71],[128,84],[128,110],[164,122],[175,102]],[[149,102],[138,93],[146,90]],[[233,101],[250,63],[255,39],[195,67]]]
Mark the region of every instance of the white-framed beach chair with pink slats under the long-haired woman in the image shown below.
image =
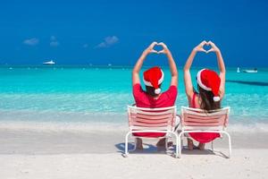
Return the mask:
[[[230,134],[226,132],[229,120],[230,107],[224,107],[218,110],[205,112],[205,110],[181,107],[180,123],[181,132],[179,134],[179,157],[181,156],[181,137],[188,132],[219,132],[226,134],[229,141],[229,158],[231,154]],[[181,143],[180,143],[181,142]],[[213,141],[212,150],[214,151]]]

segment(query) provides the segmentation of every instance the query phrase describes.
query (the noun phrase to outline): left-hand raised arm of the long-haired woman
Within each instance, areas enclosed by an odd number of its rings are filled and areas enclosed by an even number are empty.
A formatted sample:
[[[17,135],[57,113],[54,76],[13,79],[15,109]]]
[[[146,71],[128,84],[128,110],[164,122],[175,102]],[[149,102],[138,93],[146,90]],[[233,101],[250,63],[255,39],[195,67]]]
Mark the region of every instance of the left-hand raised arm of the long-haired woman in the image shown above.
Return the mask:
[[[189,69],[194,61],[195,56],[197,55],[197,52],[205,52],[205,49],[203,48],[206,44],[206,41],[202,41],[197,47],[195,47],[191,54],[188,56],[188,60],[186,64],[184,65],[183,72],[184,72],[184,86],[185,86],[185,92],[188,96],[188,98],[191,98],[194,94],[192,79],[191,79],[191,73],[189,72]]]

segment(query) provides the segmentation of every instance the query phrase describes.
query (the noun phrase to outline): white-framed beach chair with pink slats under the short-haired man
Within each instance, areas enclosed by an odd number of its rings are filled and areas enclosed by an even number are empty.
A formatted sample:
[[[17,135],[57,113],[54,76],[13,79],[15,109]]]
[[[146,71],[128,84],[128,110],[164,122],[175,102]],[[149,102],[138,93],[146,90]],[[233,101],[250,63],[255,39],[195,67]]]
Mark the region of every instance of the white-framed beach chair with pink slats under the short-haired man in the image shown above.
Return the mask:
[[[167,138],[165,147],[167,148],[167,141],[169,137],[174,136],[176,141],[175,157],[177,158],[179,138],[178,133],[175,132],[176,120],[176,106],[162,107],[162,108],[144,108],[128,106],[129,117],[129,132],[125,136],[125,157],[129,154],[128,143],[129,136],[135,132],[162,132],[165,135],[161,138]],[[136,136],[132,135],[135,139]],[[140,137],[138,137],[140,138]],[[159,138],[156,138],[159,139]],[[134,149],[136,149],[136,142]]]

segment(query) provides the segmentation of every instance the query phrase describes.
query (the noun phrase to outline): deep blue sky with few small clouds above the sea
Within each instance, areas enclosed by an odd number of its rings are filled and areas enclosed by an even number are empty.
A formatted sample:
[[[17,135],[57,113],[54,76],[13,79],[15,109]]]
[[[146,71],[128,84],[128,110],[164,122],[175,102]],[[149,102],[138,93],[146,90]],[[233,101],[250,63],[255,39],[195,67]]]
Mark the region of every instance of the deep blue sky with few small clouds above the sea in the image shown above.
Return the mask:
[[[268,2],[1,1],[0,64],[133,65],[152,41],[163,41],[183,65],[201,40],[213,40],[228,66],[268,66]],[[146,64],[166,64],[163,55]],[[215,65],[199,54],[195,65]]]

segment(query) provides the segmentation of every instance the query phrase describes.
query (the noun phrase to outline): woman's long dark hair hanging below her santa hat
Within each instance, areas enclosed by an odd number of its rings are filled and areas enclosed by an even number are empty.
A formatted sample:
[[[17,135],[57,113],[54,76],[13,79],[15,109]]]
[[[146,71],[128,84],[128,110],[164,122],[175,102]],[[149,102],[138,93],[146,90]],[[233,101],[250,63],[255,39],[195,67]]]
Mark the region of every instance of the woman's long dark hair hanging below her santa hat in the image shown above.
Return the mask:
[[[217,102],[214,101],[214,93],[212,91],[204,90],[199,85],[197,86],[199,90],[199,96],[201,98],[201,104],[200,104],[201,109],[210,111],[221,108],[221,101]]]

